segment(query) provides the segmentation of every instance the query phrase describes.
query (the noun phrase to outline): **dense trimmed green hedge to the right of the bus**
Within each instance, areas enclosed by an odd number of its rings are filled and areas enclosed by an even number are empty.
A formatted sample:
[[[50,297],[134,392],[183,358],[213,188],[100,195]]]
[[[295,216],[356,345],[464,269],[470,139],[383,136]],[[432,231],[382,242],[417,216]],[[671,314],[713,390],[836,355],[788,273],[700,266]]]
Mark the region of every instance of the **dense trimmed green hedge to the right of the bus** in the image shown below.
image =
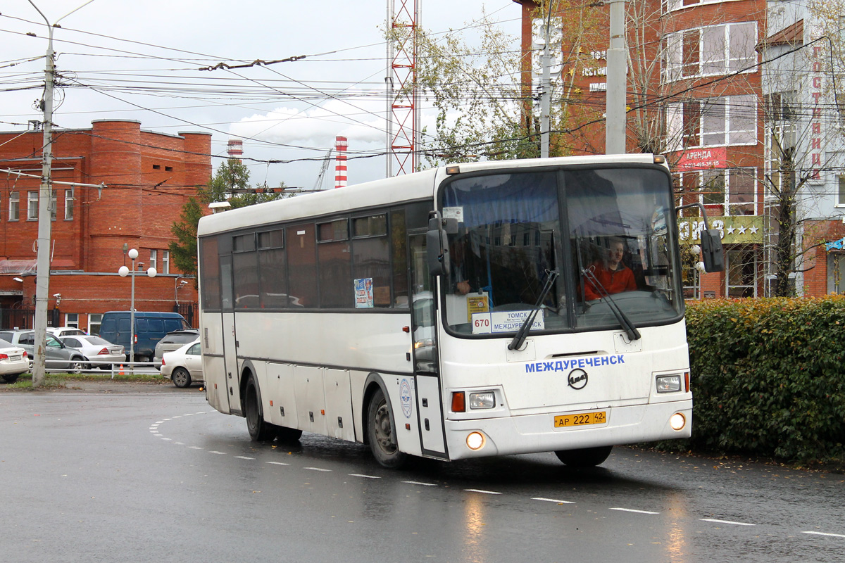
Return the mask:
[[[687,338],[690,448],[845,459],[845,298],[691,303]]]

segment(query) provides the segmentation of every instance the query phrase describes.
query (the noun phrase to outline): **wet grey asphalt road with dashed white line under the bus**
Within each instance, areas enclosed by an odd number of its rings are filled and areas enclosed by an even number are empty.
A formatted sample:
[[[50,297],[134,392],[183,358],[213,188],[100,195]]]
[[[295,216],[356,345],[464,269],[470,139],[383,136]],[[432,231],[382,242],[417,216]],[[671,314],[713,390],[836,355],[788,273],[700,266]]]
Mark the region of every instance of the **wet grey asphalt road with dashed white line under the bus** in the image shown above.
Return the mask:
[[[845,561],[840,474],[629,448],[388,471],[254,444],[198,387],[0,392],[0,477],[4,563]]]

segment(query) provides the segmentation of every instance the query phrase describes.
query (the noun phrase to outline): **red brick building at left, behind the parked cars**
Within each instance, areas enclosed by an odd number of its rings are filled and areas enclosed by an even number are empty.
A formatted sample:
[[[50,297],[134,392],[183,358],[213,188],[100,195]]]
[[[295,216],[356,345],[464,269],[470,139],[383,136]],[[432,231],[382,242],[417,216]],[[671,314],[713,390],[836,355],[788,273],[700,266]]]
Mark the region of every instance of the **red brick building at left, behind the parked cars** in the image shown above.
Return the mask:
[[[139,122],[99,120],[90,129],[53,130],[48,322],[97,332],[105,311],[129,309],[130,279],[118,268],[135,248],[135,309],[173,311],[196,301],[194,280],[172,265],[167,247],[183,204],[211,177],[208,133],[170,135]],[[43,132],[0,133],[0,310],[3,328],[31,326]],[[147,268],[158,274],[150,279]],[[56,298],[54,295],[60,295]],[[188,319],[193,322],[192,319]]]

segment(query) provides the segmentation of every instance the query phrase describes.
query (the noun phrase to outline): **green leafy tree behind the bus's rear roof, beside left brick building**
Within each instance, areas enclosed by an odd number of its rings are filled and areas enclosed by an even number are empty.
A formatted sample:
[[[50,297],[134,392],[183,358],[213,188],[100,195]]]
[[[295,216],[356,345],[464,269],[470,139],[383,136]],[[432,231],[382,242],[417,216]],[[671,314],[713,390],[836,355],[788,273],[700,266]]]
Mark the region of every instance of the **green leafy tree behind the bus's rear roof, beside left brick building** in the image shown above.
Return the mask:
[[[197,275],[197,226],[204,215],[203,207],[209,203],[228,202],[232,208],[241,208],[256,203],[281,198],[285,182],[270,189],[264,185],[248,187],[249,170],[243,162],[229,159],[223,162],[215,175],[204,187],[197,190],[197,197],[188,198],[183,205],[179,220],[174,222],[171,232],[175,241],[168,245],[173,264],[186,275]],[[200,204],[204,203],[201,207]]]

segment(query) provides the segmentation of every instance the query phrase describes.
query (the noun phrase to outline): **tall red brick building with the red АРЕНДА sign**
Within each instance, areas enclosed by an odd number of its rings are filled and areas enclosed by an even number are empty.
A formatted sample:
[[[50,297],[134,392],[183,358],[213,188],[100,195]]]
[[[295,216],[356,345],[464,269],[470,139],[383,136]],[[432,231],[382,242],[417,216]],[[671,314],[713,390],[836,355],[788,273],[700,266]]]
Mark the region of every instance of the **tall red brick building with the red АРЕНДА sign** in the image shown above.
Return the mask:
[[[515,1],[522,5],[522,50],[528,53],[543,14],[532,0]],[[764,295],[766,147],[758,46],[766,38],[766,1],[646,0],[625,6],[627,150],[665,154],[678,202],[703,204],[711,226],[722,232],[726,271],[700,274],[692,268],[694,257],[686,256],[687,295]],[[555,48],[563,70],[553,92],[564,113],[554,142],[574,154],[602,154],[608,5],[559,7],[552,20],[561,29],[555,30]],[[523,61],[530,92],[537,79],[531,57]],[[684,215],[681,241],[697,243],[701,217],[695,210]]]

